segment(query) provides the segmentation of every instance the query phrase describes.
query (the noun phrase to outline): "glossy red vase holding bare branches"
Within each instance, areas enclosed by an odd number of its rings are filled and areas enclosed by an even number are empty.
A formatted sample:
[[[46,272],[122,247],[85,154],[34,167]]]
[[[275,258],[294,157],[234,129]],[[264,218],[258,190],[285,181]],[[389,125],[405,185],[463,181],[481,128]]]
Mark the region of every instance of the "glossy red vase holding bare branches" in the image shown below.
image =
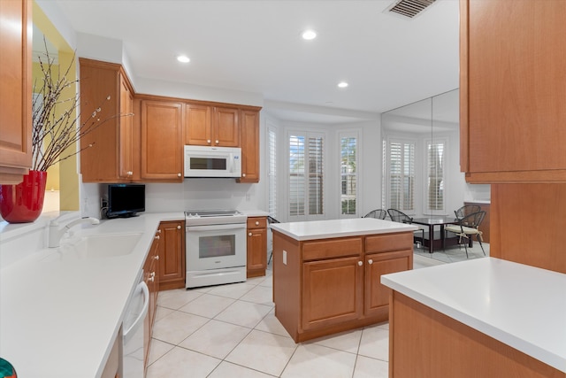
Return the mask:
[[[16,185],[0,185],[0,213],[10,223],[36,220],[43,209],[47,172],[29,171]]]

